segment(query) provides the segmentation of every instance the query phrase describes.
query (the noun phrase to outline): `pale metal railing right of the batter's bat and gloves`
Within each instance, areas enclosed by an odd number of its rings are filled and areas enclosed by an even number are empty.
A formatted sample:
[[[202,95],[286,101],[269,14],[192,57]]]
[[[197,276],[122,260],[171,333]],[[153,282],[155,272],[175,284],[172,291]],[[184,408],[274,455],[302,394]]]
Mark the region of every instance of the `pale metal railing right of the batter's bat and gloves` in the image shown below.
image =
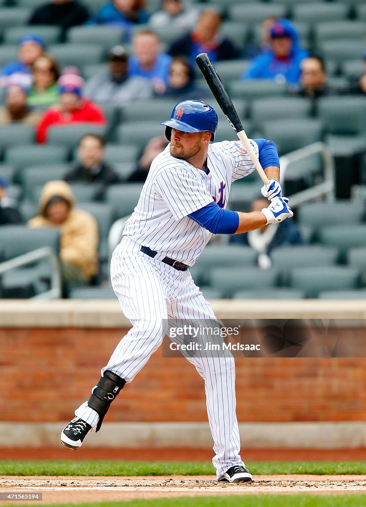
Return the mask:
[[[313,144],[309,144],[309,146],[301,148],[300,150],[283,155],[279,160],[281,167],[281,181],[284,181],[286,184],[286,170],[290,164],[304,160],[312,155],[316,155],[317,153],[320,153],[322,156],[324,180],[309,189],[302,190],[292,196],[288,196],[290,199],[290,206],[292,208],[308,202],[311,199],[322,196],[326,196],[328,201],[334,200],[334,159],[330,148],[323,142],[314,142]]]

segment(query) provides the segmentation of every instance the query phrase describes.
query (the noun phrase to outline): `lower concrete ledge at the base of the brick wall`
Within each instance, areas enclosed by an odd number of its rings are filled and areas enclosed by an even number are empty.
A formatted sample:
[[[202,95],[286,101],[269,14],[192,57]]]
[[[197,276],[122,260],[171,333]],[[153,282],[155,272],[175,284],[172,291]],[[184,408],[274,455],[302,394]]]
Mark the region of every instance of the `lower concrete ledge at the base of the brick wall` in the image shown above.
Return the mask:
[[[0,447],[58,447],[67,424],[0,423]],[[290,422],[239,424],[243,449],[357,449],[366,447],[366,422]],[[103,423],[85,447],[109,448],[211,448],[209,424],[205,422]]]

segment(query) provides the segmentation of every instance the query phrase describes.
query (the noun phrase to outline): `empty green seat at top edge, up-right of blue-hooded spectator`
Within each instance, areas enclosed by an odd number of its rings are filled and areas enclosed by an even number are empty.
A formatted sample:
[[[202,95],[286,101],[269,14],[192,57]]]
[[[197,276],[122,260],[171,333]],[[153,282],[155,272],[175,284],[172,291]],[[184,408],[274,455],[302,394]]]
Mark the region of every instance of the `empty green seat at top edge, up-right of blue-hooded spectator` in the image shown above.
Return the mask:
[[[348,18],[349,6],[343,2],[311,2],[295,5],[292,8],[292,19],[318,23],[319,20],[343,21]]]

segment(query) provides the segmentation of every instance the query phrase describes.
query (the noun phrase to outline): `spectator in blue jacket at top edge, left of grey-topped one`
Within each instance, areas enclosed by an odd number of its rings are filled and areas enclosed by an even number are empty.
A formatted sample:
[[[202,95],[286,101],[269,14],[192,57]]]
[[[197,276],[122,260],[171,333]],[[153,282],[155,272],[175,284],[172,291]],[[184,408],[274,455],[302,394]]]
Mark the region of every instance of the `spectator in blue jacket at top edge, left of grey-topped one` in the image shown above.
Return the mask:
[[[131,28],[148,22],[149,15],[144,11],[144,6],[144,0],[112,0],[104,4],[90,22],[125,28],[125,41],[129,42]]]

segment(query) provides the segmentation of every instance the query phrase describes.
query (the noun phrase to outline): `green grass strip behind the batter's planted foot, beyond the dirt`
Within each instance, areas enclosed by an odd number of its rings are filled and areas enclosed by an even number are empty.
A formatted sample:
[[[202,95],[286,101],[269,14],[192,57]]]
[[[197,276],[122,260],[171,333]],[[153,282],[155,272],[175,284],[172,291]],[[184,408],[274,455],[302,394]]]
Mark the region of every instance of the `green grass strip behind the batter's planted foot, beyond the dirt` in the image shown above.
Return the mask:
[[[364,461],[246,462],[254,475],[366,474]],[[214,475],[209,461],[0,461],[0,475],[17,476],[157,476]]]

